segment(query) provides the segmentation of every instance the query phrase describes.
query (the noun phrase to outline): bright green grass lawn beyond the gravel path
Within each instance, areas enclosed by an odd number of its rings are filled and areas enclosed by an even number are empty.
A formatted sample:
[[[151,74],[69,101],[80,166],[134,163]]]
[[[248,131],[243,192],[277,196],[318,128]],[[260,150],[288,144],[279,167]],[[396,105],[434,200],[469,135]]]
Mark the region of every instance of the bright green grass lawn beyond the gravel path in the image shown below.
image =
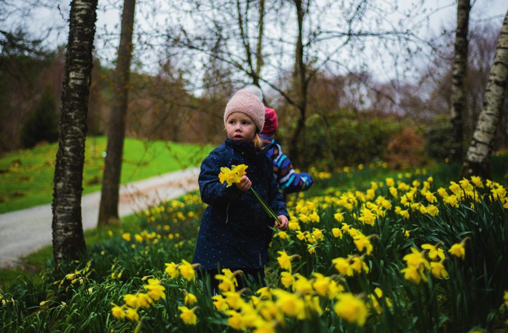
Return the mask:
[[[83,194],[101,189],[106,137],[86,139]],[[0,157],[0,213],[51,203],[57,143]],[[126,138],[121,183],[198,166],[212,146]]]

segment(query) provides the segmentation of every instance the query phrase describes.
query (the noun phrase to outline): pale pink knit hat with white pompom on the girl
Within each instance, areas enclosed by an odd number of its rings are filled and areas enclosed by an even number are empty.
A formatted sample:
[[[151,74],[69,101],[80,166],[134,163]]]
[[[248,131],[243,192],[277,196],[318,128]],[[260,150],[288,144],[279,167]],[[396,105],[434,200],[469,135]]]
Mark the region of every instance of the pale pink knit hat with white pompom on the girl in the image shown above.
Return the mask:
[[[244,89],[238,90],[229,100],[224,112],[224,125],[233,112],[242,112],[248,115],[261,132],[265,125],[265,106],[258,97],[247,93]]]

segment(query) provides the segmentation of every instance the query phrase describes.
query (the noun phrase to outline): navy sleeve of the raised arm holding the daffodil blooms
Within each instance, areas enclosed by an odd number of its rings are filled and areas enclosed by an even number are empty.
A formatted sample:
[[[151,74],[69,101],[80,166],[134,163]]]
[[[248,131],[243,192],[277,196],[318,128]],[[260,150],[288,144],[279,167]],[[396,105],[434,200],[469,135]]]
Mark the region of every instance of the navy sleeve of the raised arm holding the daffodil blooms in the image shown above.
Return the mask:
[[[244,192],[240,191],[235,185],[226,187],[227,184],[221,184],[219,181],[221,161],[217,152],[211,152],[201,163],[201,172],[198,183],[201,192],[201,200],[209,205],[231,202],[233,199],[240,198]]]

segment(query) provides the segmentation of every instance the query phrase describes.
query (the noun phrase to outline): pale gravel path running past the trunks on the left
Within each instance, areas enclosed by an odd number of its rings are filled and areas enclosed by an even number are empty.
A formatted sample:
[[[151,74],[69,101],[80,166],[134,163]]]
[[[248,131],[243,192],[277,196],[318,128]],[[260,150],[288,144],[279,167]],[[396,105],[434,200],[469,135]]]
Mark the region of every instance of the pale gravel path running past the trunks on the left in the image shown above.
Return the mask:
[[[120,217],[198,188],[199,168],[175,171],[120,187]],[[101,192],[81,198],[83,229],[97,226]],[[0,214],[0,268],[15,267],[20,258],[51,244],[51,204]]]

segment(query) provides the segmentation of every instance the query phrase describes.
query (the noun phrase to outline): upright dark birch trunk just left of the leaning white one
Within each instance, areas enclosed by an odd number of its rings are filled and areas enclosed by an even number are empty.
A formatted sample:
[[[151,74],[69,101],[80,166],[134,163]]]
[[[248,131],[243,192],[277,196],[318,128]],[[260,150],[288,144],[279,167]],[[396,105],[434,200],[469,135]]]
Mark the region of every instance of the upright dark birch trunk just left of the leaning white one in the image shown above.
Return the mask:
[[[451,122],[452,122],[452,148],[450,159],[462,161],[463,120],[466,106],[466,90],[464,79],[467,71],[467,31],[469,24],[469,0],[457,2],[457,30],[455,32],[455,57],[452,66],[452,96],[451,96]]]

